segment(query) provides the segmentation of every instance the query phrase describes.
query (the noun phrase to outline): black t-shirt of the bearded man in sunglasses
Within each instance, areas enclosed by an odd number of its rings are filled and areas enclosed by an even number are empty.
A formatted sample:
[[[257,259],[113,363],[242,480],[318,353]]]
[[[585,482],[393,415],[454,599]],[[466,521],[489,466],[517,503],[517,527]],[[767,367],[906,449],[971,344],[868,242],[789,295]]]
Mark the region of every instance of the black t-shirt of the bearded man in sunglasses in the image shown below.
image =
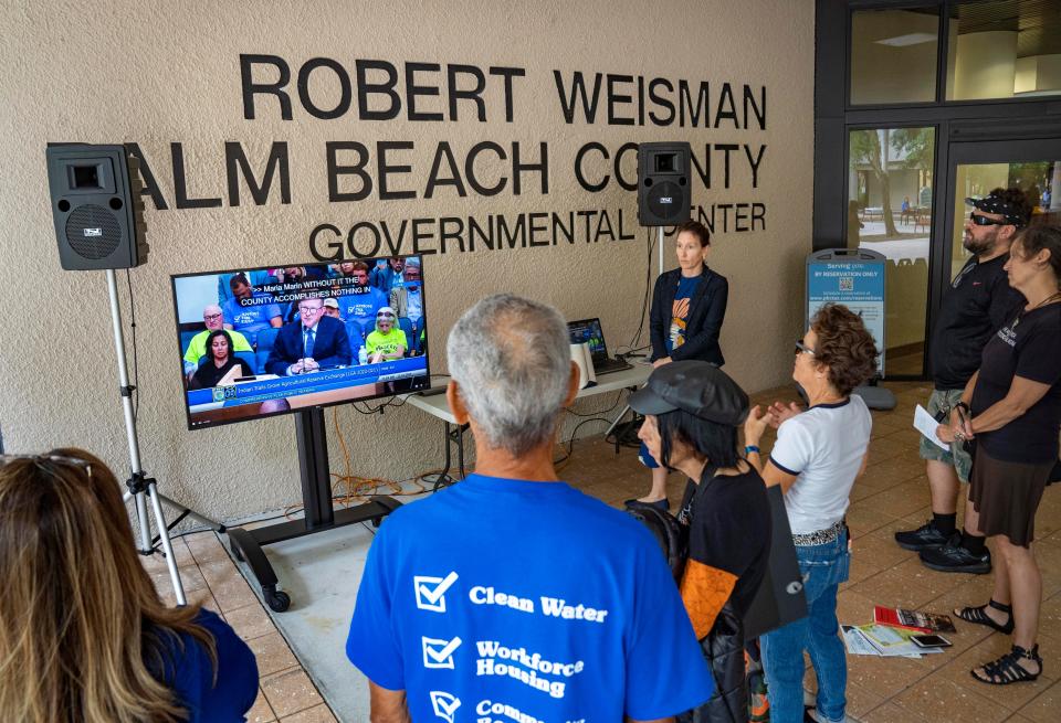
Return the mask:
[[[1025,302],[1002,266],[1009,254],[970,258],[943,296],[932,330],[932,379],[937,390],[963,390],[980,365],[984,344]]]

